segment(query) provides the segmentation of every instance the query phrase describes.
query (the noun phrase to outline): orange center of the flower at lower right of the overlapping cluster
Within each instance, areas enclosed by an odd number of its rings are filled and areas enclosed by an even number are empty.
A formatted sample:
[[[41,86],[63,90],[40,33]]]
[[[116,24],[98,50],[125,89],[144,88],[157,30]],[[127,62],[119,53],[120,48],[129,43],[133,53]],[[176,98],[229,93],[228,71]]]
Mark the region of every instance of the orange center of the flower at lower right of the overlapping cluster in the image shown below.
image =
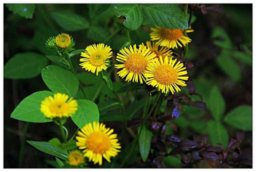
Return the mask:
[[[160,65],[154,71],[155,80],[163,85],[171,85],[177,82],[178,72],[170,65]]]

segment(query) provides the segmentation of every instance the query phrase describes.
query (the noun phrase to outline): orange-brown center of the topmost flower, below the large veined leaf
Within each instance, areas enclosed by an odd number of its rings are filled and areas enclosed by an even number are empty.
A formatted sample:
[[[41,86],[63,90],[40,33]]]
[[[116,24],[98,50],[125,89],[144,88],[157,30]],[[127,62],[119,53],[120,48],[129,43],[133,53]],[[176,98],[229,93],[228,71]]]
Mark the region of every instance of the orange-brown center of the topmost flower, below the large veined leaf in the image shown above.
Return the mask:
[[[166,28],[161,28],[160,29],[160,36],[163,39],[167,40],[177,40],[179,38],[182,38],[184,36],[183,30],[182,29],[166,29]]]

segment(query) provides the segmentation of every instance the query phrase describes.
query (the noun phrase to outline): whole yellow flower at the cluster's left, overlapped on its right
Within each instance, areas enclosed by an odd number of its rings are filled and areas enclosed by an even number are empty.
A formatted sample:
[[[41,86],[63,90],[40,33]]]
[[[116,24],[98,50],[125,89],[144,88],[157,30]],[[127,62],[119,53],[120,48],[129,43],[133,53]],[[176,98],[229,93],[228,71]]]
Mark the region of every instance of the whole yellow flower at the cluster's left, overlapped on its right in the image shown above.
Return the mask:
[[[155,53],[150,52],[150,49],[147,49],[146,46],[142,48],[139,46],[137,49],[136,44],[130,46],[129,49],[124,48],[120,50],[120,54],[117,53],[117,61],[123,64],[115,65],[117,69],[120,70],[117,74],[121,78],[125,78],[125,81],[143,83],[144,73],[147,70],[147,65],[156,57]]]

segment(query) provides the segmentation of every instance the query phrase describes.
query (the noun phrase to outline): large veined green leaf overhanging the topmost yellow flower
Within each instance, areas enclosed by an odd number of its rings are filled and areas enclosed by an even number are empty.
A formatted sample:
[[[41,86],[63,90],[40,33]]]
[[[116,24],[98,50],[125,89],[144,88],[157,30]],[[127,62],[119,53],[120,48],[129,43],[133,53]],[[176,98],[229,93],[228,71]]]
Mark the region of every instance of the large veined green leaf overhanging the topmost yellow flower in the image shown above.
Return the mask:
[[[160,28],[187,29],[187,19],[177,4],[141,4],[144,18]]]

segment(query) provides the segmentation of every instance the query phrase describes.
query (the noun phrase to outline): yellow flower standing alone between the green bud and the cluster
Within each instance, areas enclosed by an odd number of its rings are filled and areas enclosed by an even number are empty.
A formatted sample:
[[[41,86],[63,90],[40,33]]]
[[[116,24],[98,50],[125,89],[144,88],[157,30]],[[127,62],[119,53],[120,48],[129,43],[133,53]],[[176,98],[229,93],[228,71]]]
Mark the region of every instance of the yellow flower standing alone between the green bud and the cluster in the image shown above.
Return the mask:
[[[104,44],[93,44],[87,46],[85,52],[81,53],[82,57],[80,62],[80,66],[85,68],[91,73],[95,73],[98,75],[101,70],[106,70],[106,65],[109,65],[109,58],[112,57],[112,49],[110,46],[105,46]]]

